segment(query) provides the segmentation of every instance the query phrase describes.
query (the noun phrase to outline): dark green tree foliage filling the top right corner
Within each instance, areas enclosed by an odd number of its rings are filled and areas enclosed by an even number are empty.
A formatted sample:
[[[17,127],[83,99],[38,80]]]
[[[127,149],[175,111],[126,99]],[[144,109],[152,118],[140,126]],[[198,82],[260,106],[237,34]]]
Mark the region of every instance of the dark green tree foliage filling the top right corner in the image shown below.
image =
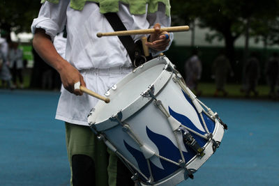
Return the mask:
[[[207,33],[206,40],[225,40],[225,52],[234,61],[234,41],[241,35],[263,40],[266,45],[279,43],[278,2],[279,0],[174,0],[171,1],[172,18],[174,24],[184,21],[190,28],[193,20],[198,20],[199,27],[215,31]]]

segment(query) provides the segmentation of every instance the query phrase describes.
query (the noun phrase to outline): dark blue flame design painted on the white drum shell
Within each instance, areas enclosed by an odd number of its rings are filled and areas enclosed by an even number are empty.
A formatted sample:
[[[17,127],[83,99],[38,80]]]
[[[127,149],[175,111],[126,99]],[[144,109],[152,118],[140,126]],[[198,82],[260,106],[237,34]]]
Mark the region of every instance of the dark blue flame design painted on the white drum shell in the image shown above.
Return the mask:
[[[183,90],[181,90],[181,91],[183,92]],[[195,108],[193,102],[190,100],[188,95],[186,95],[186,93],[184,93],[184,92],[183,92],[183,95],[186,98],[186,100],[192,105],[192,107],[195,109],[195,111],[197,112],[197,109]],[[205,134],[205,132],[202,132],[201,130],[199,130],[195,126],[195,124],[192,121],[190,121],[190,119],[187,116],[176,113],[170,107],[169,107],[169,114],[172,117],[174,117],[177,121],[179,121],[182,125],[185,125],[185,126],[189,127],[190,129],[195,130],[196,132],[199,132],[200,134]],[[197,116],[199,118],[200,123],[202,123],[202,118],[199,116],[198,112],[197,112]],[[213,132],[213,130],[215,128],[215,123],[206,114],[202,113],[202,116],[204,117],[204,121],[206,123],[206,126],[209,129],[209,132]],[[204,127],[204,126],[202,126],[202,127]],[[149,139],[151,139],[151,141],[153,141],[153,143],[157,146],[157,148],[159,150],[159,155],[166,157],[167,159],[172,160],[174,162],[179,162],[179,160],[181,160],[179,148],[177,148],[170,139],[163,136],[162,134],[157,134],[157,133],[151,131],[149,129],[149,127],[147,127],[147,126],[146,126],[146,134],[148,135]],[[206,139],[203,139],[193,133],[192,133],[192,135],[200,146],[204,146],[206,144],[206,142],[207,142]],[[146,159],[144,157],[144,154],[140,150],[137,150],[137,149],[133,148],[132,146],[130,146],[128,143],[126,143],[125,140],[123,140],[123,142],[124,142],[124,145],[126,146],[127,150],[131,153],[131,155],[133,155],[133,157],[135,157],[135,160],[137,161],[140,171],[142,171],[144,176],[149,178],[150,173],[149,173],[148,165],[147,165]],[[183,153],[183,156],[184,156],[186,162],[188,162],[196,155],[196,153],[189,146],[185,146],[185,147],[188,152],[187,153],[182,152],[182,153]],[[162,164],[163,169],[160,169],[158,166],[156,166],[155,164],[153,164],[153,162],[150,161],[151,171],[152,171],[153,179],[155,182],[158,180],[162,180],[163,178],[166,178],[167,176],[174,173],[176,170],[180,169],[180,166],[176,166],[176,164],[172,164],[172,163],[167,162],[162,159],[160,159],[160,163]],[[142,176],[141,176],[141,178],[142,178]],[[142,180],[144,180],[144,178],[142,178]]]

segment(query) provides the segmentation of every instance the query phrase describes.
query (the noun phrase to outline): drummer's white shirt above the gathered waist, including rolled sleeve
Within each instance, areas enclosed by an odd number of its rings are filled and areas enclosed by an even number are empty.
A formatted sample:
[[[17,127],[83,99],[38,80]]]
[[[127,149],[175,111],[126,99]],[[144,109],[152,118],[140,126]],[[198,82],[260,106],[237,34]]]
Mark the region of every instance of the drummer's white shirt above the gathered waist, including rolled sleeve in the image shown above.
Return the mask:
[[[105,16],[99,13],[97,4],[86,2],[83,10],[74,10],[69,3],[69,0],[59,1],[59,4],[46,1],[38,18],[33,20],[32,33],[36,28],[42,28],[53,39],[67,23],[66,60],[75,68],[81,70],[130,66],[126,49],[117,36],[97,38],[98,32],[113,31]],[[161,3],[157,13],[144,15],[130,15],[128,6],[120,3],[117,14],[127,30],[149,29],[157,22],[166,27],[171,21],[165,15],[165,6]],[[134,40],[142,38],[140,35],[132,37]]]

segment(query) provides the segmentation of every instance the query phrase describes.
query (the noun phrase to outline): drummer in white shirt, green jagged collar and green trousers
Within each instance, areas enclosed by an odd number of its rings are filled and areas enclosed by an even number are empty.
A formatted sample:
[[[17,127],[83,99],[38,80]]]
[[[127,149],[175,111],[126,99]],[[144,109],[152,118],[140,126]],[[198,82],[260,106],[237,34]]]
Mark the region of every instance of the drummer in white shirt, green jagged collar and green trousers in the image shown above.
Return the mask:
[[[136,3],[135,3],[136,2]],[[75,86],[82,86],[103,95],[131,70],[131,60],[118,37],[97,38],[100,31],[113,31],[102,13],[116,12],[127,30],[156,29],[146,45],[153,56],[167,50],[173,35],[160,33],[160,26],[170,26],[169,1],[43,1],[38,18],[33,20],[33,47],[61,77],[63,90],[56,110],[56,119],[66,124],[66,147],[71,170],[71,185],[133,185],[130,174],[103,142],[97,141],[87,123],[87,114],[96,98],[89,97]],[[52,40],[67,29],[66,56],[63,59]],[[142,36],[131,36],[134,41]],[[68,63],[69,62],[69,63]],[[76,84],[77,85],[77,84]],[[77,96],[80,95],[80,96]],[[109,153],[107,153],[107,151]]]

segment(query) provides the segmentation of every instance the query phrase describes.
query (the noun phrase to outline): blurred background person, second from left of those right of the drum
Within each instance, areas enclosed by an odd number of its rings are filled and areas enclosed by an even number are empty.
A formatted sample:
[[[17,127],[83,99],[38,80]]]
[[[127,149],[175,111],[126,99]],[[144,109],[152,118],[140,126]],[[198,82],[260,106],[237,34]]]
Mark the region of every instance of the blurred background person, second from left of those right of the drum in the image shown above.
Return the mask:
[[[223,93],[223,96],[227,96],[227,91],[225,91],[227,76],[233,76],[234,72],[232,71],[232,66],[229,62],[229,59],[227,59],[227,56],[225,56],[223,52],[220,52],[217,58],[213,61],[211,72],[211,77],[215,79],[216,84],[214,96],[218,96],[220,92]]]

